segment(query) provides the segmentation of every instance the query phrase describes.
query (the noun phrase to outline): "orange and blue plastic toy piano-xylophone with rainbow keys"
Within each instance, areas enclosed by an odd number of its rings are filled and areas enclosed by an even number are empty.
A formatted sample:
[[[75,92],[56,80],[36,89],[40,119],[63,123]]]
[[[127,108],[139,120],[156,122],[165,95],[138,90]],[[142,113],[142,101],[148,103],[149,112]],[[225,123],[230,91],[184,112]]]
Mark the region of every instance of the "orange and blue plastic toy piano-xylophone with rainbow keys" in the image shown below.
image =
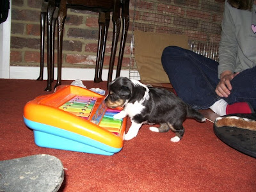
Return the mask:
[[[107,108],[104,96],[67,85],[29,101],[24,122],[40,147],[111,156],[124,144],[127,118],[113,118],[119,111]]]

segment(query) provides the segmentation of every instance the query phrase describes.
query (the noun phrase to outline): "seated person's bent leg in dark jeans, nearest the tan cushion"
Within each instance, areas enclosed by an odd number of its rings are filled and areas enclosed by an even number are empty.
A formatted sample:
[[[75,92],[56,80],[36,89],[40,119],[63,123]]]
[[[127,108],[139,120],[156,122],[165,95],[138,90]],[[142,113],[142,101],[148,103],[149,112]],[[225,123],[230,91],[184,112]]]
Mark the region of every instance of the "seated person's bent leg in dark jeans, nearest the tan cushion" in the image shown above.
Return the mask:
[[[194,109],[208,109],[220,99],[215,93],[218,62],[180,47],[166,47],[162,64],[177,95]]]

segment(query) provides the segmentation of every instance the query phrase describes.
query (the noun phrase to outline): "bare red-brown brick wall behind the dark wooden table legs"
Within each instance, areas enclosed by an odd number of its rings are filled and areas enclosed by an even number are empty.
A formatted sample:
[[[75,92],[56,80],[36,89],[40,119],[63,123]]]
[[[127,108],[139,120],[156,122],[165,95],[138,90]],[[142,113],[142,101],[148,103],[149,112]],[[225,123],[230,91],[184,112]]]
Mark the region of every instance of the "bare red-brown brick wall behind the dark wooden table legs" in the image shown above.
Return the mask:
[[[42,1],[12,1],[11,66],[40,66],[40,10]],[[131,8],[132,10],[132,8]],[[63,35],[63,67],[94,68],[98,42],[98,13],[68,9]],[[57,26],[57,25],[56,25]],[[125,46],[123,69],[129,67],[131,26]],[[120,31],[121,34],[122,31]],[[108,68],[113,24],[109,24],[104,68]],[[46,26],[45,26],[46,40]],[[57,29],[55,40],[55,64],[57,63]],[[118,47],[119,48],[119,47]],[[119,50],[119,49],[118,49]],[[45,44],[45,66],[47,66]],[[116,52],[115,65],[118,52]]]

